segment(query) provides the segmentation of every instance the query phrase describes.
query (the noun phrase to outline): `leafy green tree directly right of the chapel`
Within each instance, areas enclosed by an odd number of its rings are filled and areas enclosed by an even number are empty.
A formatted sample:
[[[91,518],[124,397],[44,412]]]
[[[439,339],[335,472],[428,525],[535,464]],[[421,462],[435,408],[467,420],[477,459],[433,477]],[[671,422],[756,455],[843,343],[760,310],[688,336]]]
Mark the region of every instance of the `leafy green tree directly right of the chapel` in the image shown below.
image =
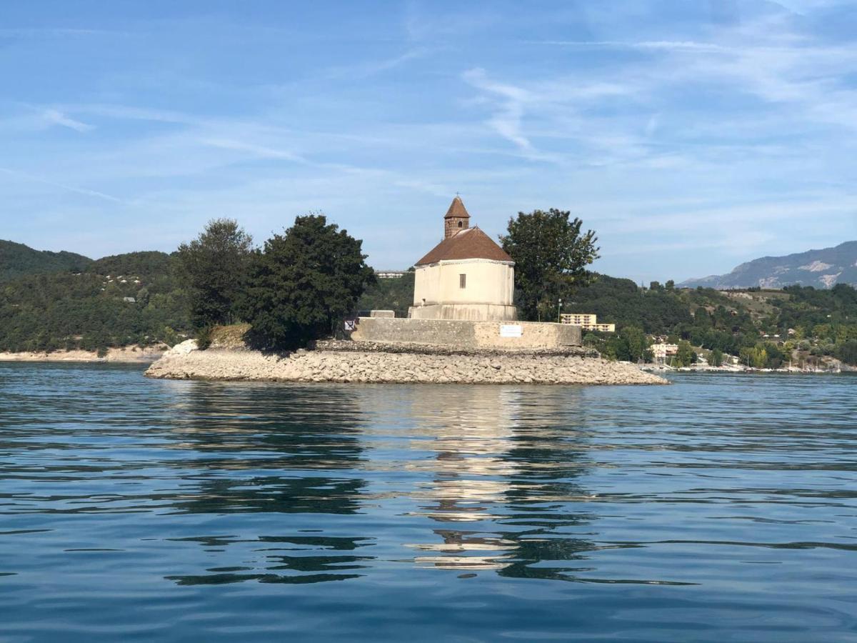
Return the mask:
[[[594,231],[581,232],[581,224],[570,212],[553,207],[509,219],[500,242],[515,261],[518,309],[524,319],[555,310],[560,297],[590,283],[586,267],[598,258],[598,239]]]

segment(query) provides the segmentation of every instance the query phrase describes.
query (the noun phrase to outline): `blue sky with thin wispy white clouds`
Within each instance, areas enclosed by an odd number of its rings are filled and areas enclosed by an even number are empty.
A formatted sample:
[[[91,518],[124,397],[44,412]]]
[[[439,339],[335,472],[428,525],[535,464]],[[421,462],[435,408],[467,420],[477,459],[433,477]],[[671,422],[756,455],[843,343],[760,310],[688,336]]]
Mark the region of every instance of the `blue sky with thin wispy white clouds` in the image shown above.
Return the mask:
[[[0,4],[0,238],[170,251],[322,211],[379,268],[456,191],[637,280],[857,238],[857,3]]]

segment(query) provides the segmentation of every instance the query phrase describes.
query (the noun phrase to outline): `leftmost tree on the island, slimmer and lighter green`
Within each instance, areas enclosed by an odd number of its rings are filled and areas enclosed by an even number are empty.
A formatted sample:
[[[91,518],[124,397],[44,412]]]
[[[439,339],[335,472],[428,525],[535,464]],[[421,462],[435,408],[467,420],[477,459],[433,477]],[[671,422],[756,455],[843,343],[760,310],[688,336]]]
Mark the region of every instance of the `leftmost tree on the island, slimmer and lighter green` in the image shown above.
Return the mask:
[[[233,219],[212,219],[199,237],[178,247],[195,328],[235,321],[252,250],[253,237]]]

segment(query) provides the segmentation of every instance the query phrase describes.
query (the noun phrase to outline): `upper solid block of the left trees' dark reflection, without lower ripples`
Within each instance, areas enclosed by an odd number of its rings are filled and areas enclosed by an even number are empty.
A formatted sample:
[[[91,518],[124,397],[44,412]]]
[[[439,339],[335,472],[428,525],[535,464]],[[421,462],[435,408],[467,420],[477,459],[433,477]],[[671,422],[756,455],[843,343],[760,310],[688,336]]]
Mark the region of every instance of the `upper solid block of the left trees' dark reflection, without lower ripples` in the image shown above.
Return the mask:
[[[202,513],[351,514],[364,486],[359,411],[345,388],[200,385],[177,400],[173,434],[193,458],[195,491],[173,501]],[[341,472],[339,475],[337,472]]]

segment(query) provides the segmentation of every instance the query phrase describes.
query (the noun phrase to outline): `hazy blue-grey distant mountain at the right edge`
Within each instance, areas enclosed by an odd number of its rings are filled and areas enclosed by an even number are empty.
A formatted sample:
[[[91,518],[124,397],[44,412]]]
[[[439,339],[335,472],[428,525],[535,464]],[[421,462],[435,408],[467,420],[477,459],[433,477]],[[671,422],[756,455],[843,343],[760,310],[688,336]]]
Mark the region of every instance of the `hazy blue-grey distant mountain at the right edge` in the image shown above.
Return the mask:
[[[765,256],[742,263],[731,273],[687,279],[685,288],[726,290],[728,288],[782,288],[784,285],[812,285],[832,288],[836,284],[857,285],[857,241],[841,243],[836,248],[807,250],[796,255]]]

